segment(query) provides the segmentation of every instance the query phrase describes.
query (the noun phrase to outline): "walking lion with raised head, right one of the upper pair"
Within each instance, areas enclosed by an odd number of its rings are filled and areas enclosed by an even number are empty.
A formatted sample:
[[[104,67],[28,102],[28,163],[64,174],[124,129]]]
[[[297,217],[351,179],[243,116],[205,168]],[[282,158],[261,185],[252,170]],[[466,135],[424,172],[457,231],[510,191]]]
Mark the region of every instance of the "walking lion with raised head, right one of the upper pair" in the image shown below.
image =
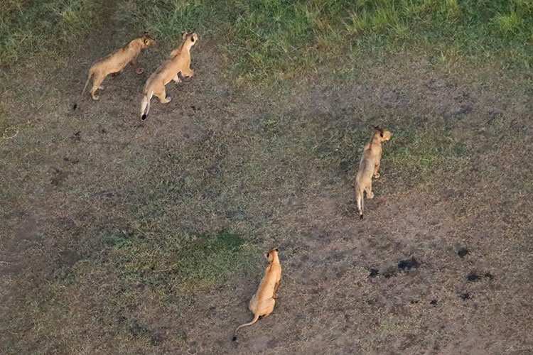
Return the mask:
[[[150,100],[154,95],[159,98],[161,104],[171,102],[171,97],[166,96],[165,85],[171,80],[176,82],[176,84],[181,82],[178,73],[181,72],[182,77],[192,77],[194,75],[194,70],[190,69],[190,48],[197,41],[198,35],[196,33],[184,32],[183,43],[180,48],[173,50],[168,60],[146,80],[141,101],[141,119],[146,119],[146,116],[148,116]]]

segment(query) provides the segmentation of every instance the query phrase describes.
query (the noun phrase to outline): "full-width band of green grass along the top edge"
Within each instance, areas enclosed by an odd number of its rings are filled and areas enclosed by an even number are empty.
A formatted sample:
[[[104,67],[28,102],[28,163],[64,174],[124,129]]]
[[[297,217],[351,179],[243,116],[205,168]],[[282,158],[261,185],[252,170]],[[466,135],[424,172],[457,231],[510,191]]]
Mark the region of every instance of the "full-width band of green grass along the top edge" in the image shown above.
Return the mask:
[[[0,65],[69,53],[117,6],[118,21],[176,46],[182,31],[217,43],[235,82],[284,80],[325,62],[375,59],[408,48],[502,67],[532,66],[533,5],[527,0],[4,1]],[[125,39],[124,39],[125,40]],[[524,45],[527,43],[527,45]],[[349,61],[349,59],[348,59]]]

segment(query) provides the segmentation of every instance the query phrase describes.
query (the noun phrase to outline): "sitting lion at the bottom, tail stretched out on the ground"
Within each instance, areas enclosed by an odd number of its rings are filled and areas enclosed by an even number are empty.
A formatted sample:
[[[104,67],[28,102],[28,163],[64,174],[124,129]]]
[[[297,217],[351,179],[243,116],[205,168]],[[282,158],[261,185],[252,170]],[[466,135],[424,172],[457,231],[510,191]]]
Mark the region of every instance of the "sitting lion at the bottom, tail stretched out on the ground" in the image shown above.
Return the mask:
[[[268,259],[270,265],[266,268],[263,280],[261,280],[259,288],[257,289],[257,293],[252,296],[252,300],[250,300],[248,306],[249,310],[254,313],[254,319],[252,322],[239,325],[239,327],[235,329],[233,340],[237,339],[237,331],[240,328],[254,324],[259,317],[268,317],[272,310],[274,310],[274,305],[276,304],[275,298],[277,297],[276,290],[278,289],[279,280],[281,279],[281,265],[279,265],[278,249],[271,249],[264,253],[264,256]]]

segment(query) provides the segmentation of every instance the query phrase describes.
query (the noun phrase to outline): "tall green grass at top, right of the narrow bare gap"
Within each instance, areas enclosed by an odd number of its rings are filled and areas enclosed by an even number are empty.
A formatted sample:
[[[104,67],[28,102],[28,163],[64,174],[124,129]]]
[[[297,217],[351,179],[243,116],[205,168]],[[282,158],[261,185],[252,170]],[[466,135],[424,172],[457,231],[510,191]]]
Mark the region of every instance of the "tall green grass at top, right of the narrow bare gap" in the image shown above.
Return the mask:
[[[181,31],[215,40],[237,83],[320,71],[346,56],[402,48],[502,67],[532,66],[527,0],[162,1],[129,0],[128,21],[171,43]],[[529,45],[524,45],[529,43]]]

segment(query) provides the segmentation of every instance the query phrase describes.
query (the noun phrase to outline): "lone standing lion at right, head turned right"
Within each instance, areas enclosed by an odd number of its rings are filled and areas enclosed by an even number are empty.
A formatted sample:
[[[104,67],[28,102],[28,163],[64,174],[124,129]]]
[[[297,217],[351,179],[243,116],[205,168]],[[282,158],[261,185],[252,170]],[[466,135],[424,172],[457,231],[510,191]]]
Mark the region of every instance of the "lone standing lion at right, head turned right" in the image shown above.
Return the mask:
[[[357,195],[357,211],[359,212],[360,219],[362,219],[362,213],[364,209],[363,192],[367,192],[367,198],[374,197],[372,192],[372,175],[374,178],[379,178],[379,161],[381,160],[382,142],[390,139],[390,132],[384,131],[379,127],[375,127],[376,131],[367,143],[365,149],[362,151],[361,160],[359,163],[359,171],[355,178],[355,194]]]

